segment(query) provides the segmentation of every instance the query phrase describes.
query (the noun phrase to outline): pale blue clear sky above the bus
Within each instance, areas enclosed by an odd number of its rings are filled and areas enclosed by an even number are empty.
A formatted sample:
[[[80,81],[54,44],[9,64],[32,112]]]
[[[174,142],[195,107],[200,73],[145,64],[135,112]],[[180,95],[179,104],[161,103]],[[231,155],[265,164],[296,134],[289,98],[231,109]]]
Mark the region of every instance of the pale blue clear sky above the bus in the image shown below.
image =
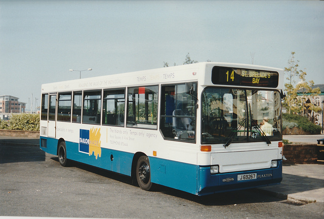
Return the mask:
[[[289,67],[324,84],[324,1],[0,0],[0,95],[195,61]],[[298,81],[298,79],[296,79]]]

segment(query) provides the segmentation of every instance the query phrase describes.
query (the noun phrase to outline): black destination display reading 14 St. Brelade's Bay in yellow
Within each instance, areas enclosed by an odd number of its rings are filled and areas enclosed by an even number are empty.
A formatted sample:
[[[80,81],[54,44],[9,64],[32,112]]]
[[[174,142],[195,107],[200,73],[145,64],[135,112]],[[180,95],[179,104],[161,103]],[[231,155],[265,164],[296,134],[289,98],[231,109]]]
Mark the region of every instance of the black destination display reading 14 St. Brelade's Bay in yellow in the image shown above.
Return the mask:
[[[219,66],[212,69],[213,84],[276,88],[278,79],[279,74],[276,71]]]

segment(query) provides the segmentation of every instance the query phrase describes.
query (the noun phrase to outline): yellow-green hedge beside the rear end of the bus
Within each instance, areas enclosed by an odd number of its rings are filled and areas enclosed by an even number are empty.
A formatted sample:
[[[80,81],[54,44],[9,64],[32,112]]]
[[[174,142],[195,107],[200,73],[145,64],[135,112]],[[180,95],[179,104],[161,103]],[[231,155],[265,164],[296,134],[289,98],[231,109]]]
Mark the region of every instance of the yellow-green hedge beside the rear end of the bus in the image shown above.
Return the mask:
[[[9,129],[39,131],[39,114],[14,114],[9,120]]]

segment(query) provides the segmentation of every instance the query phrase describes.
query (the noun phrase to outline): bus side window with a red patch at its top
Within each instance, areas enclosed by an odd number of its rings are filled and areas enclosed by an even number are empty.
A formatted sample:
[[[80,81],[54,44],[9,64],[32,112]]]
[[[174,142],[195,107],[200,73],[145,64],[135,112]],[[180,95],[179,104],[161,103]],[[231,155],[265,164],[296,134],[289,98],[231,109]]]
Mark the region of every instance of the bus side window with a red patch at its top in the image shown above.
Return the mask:
[[[127,127],[157,128],[158,86],[129,88]]]

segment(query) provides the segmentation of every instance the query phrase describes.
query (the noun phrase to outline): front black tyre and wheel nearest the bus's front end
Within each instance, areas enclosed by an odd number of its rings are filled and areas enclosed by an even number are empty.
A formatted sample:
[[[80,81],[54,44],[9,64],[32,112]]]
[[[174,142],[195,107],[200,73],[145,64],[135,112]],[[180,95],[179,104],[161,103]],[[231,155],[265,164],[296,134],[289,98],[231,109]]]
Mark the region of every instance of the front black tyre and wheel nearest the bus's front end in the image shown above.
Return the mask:
[[[136,179],[142,190],[149,191],[152,187],[151,169],[148,157],[141,156],[136,165]]]

